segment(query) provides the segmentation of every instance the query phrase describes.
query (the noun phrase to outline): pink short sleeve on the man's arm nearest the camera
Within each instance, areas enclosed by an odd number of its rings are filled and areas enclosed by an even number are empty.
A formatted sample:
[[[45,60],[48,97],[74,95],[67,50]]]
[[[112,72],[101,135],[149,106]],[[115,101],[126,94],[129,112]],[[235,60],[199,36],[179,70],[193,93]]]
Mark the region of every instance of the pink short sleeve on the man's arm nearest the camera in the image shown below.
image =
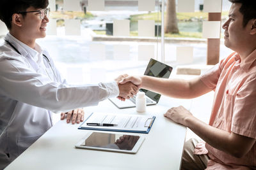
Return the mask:
[[[256,75],[248,78],[234,101],[231,131],[256,139]]]

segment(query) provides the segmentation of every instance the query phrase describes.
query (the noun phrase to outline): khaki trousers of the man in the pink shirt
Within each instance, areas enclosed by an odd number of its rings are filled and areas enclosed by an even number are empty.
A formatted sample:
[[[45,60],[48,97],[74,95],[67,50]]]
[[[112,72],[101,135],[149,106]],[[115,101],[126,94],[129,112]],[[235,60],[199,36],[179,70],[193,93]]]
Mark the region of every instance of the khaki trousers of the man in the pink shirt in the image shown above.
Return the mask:
[[[189,139],[184,144],[180,169],[194,170],[205,169],[207,167],[207,162],[210,159],[208,155],[194,155],[194,150],[197,143],[199,143],[197,139]]]

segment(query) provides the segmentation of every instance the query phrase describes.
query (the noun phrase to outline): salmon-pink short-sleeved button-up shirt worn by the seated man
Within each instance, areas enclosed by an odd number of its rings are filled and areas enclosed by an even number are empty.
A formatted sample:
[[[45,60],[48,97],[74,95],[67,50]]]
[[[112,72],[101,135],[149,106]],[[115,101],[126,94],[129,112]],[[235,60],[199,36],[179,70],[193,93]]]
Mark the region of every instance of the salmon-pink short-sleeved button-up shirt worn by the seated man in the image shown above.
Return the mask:
[[[201,80],[215,90],[209,125],[256,139],[256,50],[243,60],[232,53],[203,74]],[[256,169],[256,143],[242,158],[207,143],[205,148],[198,144],[195,154],[208,150],[211,160],[207,169]]]

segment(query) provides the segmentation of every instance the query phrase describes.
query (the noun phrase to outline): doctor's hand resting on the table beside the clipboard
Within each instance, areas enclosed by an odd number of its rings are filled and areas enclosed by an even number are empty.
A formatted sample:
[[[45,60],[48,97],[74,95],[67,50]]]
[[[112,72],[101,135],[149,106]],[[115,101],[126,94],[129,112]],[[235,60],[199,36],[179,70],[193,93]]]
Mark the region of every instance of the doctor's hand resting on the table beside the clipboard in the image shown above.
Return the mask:
[[[84,121],[84,110],[79,108],[76,110],[68,111],[67,113],[61,113],[61,120],[67,117],[67,124],[72,120],[72,124],[79,124]]]

